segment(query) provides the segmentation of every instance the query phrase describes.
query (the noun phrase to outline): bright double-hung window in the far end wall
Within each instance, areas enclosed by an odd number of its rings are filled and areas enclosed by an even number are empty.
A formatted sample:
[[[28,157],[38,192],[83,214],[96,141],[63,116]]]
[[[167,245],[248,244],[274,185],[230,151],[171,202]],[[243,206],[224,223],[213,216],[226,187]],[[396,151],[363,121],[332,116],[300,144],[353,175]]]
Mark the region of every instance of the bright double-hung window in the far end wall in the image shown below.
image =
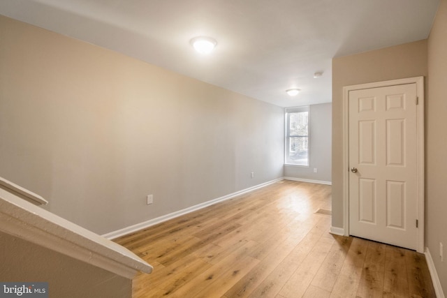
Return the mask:
[[[309,107],[286,109],[286,164],[309,166]]]

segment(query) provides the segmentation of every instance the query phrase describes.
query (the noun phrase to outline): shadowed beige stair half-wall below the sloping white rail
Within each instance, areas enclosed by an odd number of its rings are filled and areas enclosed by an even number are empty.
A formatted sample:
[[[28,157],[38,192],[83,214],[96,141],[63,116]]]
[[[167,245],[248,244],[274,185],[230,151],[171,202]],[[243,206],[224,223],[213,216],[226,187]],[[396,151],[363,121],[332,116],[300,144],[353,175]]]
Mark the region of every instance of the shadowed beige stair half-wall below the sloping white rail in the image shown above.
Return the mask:
[[[126,298],[132,281],[0,232],[0,281],[47,282],[50,297]]]

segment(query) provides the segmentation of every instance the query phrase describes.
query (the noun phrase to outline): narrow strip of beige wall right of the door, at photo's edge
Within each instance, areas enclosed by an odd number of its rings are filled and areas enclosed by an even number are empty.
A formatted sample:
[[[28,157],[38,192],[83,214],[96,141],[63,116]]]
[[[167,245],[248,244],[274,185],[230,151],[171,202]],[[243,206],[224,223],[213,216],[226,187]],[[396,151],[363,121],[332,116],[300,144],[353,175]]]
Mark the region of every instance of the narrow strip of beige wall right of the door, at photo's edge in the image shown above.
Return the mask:
[[[441,0],[428,38],[428,100],[426,108],[426,233],[444,293],[447,295],[447,1]],[[439,258],[444,244],[444,262]]]

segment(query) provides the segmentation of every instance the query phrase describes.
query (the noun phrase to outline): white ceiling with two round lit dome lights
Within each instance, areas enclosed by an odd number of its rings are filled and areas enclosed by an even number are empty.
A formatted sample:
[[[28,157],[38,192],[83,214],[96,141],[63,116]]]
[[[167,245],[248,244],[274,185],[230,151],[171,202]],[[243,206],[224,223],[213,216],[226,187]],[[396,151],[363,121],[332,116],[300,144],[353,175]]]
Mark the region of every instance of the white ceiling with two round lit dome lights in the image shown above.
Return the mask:
[[[0,14],[281,107],[332,100],[332,58],[427,38],[439,0],[0,0]],[[189,40],[212,36],[208,56]],[[314,79],[315,72],[324,72]],[[299,88],[290,97],[286,89]]]

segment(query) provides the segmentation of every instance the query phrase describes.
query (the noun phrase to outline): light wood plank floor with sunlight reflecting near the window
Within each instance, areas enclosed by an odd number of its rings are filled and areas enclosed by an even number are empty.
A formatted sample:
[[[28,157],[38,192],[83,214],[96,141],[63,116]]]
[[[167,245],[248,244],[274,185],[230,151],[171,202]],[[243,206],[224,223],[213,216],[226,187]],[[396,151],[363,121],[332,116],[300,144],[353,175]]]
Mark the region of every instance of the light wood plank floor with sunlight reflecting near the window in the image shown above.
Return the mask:
[[[329,234],[331,187],[280,181],[116,239],[133,297],[435,297],[425,256]]]

